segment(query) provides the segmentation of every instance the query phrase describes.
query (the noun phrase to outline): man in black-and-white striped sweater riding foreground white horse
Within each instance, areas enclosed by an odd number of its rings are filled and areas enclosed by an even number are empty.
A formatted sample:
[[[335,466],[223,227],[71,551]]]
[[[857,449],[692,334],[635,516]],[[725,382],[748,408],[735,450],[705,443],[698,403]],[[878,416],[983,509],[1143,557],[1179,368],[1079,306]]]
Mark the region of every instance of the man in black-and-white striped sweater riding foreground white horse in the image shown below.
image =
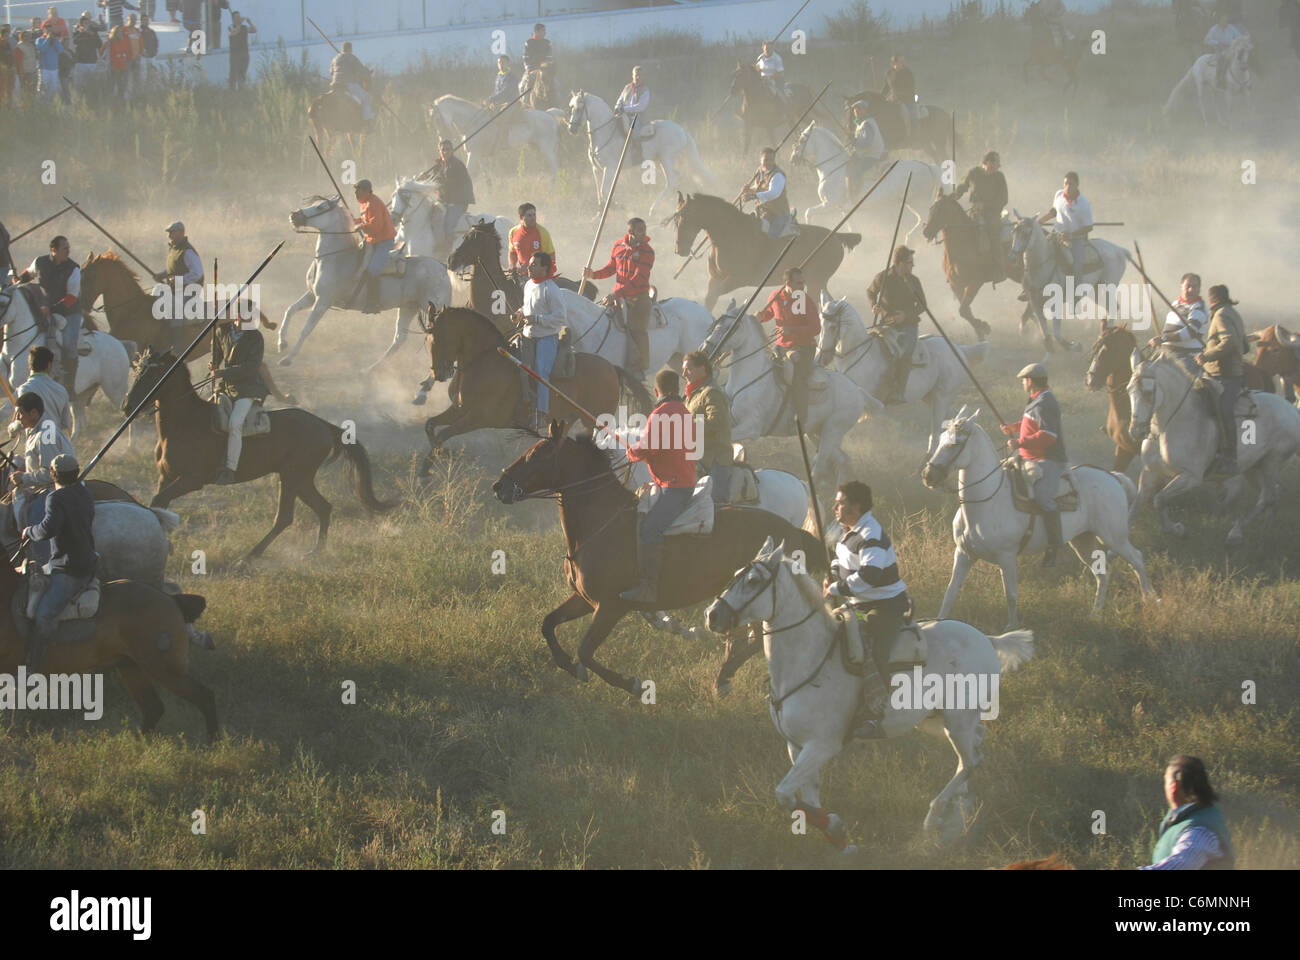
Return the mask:
[[[823,585],[824,596],[842,598],[862,618],[872,648],[885,650],[907,622],[911,600],[898,576],[893,542],[872,513],[871,488],[861,480],[842,484],[835,494],[835,519],[844,533],[835,544],[835,559]],[[863,660],[862,706],[853,735],[884,738],[881,721],[888,692],[872,650]]]

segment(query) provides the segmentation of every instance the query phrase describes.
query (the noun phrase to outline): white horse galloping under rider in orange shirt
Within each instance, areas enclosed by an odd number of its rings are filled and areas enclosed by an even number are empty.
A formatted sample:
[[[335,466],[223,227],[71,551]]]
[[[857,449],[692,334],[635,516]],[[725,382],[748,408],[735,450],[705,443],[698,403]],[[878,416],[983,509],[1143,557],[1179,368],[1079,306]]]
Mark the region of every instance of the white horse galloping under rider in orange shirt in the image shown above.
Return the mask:
[[[316,238],[316,255],[312,265],[307,268],[307,293],[289,304],[285,311],[283,323],[280,325],[277,346],[280,353],[280,366],[287,367],[303,349],[317,321],[325,311],[334,307],[337,302],[352,297],[354,290],[361,280],[363,255],[369,255],[369,248],[364,251],[358,246],[352,217],[343,208],[338,196],[329,199],[316,199],[309,207],[295,209],[289,216],[290,222],[296,229],[309,228],[318,233]],[[411,320],[415,319],[429,303],[434,308],[450,306],[451,280],[447,277],[447,268],[432,258],[412,258],[404,261],[406,276],[385,276],[380,281],[380,307],[382,310],[398,308],[398,320],[393,328],[393,342],[378,360],[370,364],[373,371],[384,360],[402,346]],[[285,347],[289,343],[289,321],[303,307],[311,306],[303,332],[298,334],[298,342],[289,353]],[[338,306],[338,310],[360,310],[360,306]]]

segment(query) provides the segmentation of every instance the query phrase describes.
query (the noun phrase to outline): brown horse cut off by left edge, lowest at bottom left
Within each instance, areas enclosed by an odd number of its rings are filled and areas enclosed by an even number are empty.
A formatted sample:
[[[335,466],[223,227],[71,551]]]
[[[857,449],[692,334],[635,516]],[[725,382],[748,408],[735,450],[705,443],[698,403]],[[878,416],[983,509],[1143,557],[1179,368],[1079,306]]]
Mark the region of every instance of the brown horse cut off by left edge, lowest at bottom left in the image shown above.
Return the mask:
[[[9,548],[12,549],[12,546]],[[26,640],[9,613],[22,575],[0,563],[0,674],[14,675],[26,657]],[[44,674],[84,674],[116,667],[122,686],[140,706],[140,731],[150,732],[162,715],[161,684],[199,708],[208,739],[217,736],[217,701],[212,691],[188,675],[190,639],[186,624],[203,613],[205,601],[192,593],[169,597],[136,580],[113,580],[101,588],[95,632],[78,643],[52,643],[42,663]]]

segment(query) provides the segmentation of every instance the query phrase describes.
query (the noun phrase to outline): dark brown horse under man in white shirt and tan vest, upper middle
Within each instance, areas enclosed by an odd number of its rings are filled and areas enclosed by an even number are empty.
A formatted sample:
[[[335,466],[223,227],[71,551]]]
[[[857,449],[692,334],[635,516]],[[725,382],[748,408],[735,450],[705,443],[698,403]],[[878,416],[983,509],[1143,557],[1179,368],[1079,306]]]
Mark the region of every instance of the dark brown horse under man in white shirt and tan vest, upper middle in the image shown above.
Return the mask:
[[[718,298],[741,286],[754,286],[763,280],[767,268],[780,256],[786,238],[768,237],[763,233],[758,217],[742,213],[720,196],[708,194],[677,194],[677,212],[670,221],[677,221],[675,250],[679,256],[689,256],[696,237],[703,230],[712,242],[708,252],[708,293],[705,306],[714,308]],[[824,226],[801,225],[800,235],[790,252],[781,260],[781,267],[797,267],[826,239],[831,232]],[[844,252],[862,242],[861,233],[836,233],[835,238],[822,246],[807,264],[803,265],[803,278],[807,284],[809,302],[816,303],[827,281],[844,263]],[[780,267],[774,276],[780,276]],[[759,541],[762,544],[762,541]]]

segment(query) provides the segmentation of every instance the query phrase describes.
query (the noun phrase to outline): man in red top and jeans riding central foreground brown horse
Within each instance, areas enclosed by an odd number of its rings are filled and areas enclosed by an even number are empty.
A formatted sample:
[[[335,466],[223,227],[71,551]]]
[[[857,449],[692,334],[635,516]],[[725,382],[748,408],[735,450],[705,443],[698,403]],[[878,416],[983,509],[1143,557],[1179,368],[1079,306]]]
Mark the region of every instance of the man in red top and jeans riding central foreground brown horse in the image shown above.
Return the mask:
[[[653,604],[659,596],[659,572],[663,568],[663,532],[681,516],[690,505],[696,489],[696,462],[688,457],[686,432],[694,420],[677,395],[680,381],[671,369],[654,376],[654,395],[659,401],[641,441],[628,449],[629,460],[641,460],[650,467],[650,480],[659,488],[655,505],[637,515],[637,583],[619,596],[634,604]],[[676,424],[679,428],[675,428]],[[663,437],[671,440],[667,447],[659,445]]]

